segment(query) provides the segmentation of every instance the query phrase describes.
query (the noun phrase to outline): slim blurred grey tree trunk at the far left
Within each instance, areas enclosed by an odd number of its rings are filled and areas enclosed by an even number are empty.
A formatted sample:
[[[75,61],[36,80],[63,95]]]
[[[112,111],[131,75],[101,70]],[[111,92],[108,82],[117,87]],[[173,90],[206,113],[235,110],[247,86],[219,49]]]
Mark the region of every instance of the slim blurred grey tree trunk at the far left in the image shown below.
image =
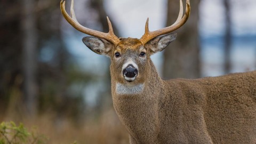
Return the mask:
[[[37,83],[36,83],[36,66],[37,66],[37,29],[35,1],[23,0],[23,74],[25,89],[25,105],[28,115],[34,117],[37,113]]]

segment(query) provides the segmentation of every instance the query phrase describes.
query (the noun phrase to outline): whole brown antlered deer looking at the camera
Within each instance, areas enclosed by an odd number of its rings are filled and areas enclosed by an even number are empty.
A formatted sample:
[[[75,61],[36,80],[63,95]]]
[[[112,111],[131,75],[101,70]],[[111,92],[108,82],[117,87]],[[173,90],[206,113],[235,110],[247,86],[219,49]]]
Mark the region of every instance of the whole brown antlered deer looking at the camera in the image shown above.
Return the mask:
[[[189,0],[177,21],[140,38],[117,38],[81,26],[71,2],[65,19],[82,33],[84,44],[111,59],[111,91],[116,113],[131,143],[256,143],[256,71],[201,79],[163,81],[150,60],[177,37],[190,13]],[[166,35],[167,34],[167,35]]]

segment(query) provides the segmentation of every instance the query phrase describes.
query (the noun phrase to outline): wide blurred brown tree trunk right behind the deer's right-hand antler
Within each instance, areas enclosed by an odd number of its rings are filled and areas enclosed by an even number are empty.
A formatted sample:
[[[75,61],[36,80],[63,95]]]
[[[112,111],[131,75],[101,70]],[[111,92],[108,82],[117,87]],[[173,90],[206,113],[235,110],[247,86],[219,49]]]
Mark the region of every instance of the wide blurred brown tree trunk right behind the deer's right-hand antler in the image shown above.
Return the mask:
[[[184,26],[176,31],[177,39],[164,51],[163,77],[197,78],[200,77],[198,5],[200,0],[190,1],[191,13]],[[178,17],[179,2],[169,0],[167,7],[167,26]]]

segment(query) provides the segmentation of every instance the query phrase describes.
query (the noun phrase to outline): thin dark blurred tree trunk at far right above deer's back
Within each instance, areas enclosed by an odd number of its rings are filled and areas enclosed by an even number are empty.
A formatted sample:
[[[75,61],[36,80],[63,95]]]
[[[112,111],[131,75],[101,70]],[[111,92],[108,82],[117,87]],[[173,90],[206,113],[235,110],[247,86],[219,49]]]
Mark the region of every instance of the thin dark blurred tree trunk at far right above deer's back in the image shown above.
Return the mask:
[[[230,13],[230,1],[223,0],[223,4],[225,6],[225,37],[224,37],[224,59],[225,73],[230,73],[231,70],[231,58],[230,58],[230,50],[231,50],[231,13]]]

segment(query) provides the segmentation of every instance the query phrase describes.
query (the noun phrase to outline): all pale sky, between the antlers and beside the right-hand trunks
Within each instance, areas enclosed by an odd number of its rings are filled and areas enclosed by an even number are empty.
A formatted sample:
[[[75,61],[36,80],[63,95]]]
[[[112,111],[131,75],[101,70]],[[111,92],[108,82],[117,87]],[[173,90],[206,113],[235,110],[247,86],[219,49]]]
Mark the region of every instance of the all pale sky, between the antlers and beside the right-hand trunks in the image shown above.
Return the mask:
[[[256,1],[231,1],[233,2],[231,6],[231,21],[234,23],[233,30],[235,34],[255,34]],[[219,34],[223,31],[225,11],[222,2],[223,0],[201,0],[199,27],[202,34]],[[149,18],[150,30],[165,26],[166,4],[166,0],[108,0],[105,6],[107,12],[118,24],[118,29],[121,30],[122,36],[140,38],[143,35],[147,18]],[[191,7],[191,11],[193,11],[193,7]]]

